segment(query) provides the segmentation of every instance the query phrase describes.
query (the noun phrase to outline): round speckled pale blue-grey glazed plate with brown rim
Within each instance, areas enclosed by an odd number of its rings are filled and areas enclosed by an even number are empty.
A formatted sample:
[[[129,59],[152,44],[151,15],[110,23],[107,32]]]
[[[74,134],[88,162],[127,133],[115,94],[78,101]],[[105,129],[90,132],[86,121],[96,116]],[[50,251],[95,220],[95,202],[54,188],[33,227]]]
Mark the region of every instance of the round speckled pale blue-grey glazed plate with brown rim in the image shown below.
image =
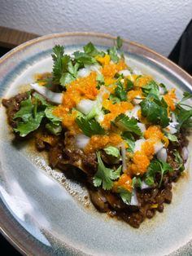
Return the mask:
[[[27,90],[35,73],[50,71],[55,44],[71,53],[89,41],[106,49],[115,39],[96,33],[59,33],[16,47],[0,59],[1,97]],[[183,90],[191,92],[192,78],[163,56],[127,40],[123,51],[130,66],[177,87],[178,96]],[[134,229],[94,210],[86,189],[51,170],[46,155],[36,152],[33,143],[14,143],[2,107],[0,120],[0,229],[22,254],[192,255],[190,159],[186,174],[173,188],[172,204]]]

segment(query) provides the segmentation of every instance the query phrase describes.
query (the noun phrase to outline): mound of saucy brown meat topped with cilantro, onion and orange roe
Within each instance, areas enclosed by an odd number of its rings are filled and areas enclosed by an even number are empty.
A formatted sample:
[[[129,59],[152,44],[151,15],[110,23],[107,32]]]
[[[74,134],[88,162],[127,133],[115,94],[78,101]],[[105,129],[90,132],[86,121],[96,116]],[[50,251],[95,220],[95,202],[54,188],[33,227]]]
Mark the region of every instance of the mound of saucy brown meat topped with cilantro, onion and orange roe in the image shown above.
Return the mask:
[[[164,210],[185,171],[192,95],[130,67],[122,41],[53,48],[53,70],[2,99],[16,139],[35,138],[50,166],[81,176],[95,207],[132,227]],[[186,100],[186,102],[185,102]]]

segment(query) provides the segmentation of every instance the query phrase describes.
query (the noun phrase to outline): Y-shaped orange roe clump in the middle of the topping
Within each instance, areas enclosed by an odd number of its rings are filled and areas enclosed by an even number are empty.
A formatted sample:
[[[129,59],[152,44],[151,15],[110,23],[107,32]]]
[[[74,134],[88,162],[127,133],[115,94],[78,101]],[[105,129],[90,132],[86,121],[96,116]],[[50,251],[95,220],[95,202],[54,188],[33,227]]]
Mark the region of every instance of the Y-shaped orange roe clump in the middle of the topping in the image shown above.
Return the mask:
[[[110,100],[104,100],[103,107],[109,110],[110,113],[107,113],[105,115],[101,125],[105,129],[110,129],[111,121],[113,121],[117,116],[119,116],[120,113],[125,113],[129,109],[133,109],[133,104],[126,101],[121,101],[120,103],[112,104]]]

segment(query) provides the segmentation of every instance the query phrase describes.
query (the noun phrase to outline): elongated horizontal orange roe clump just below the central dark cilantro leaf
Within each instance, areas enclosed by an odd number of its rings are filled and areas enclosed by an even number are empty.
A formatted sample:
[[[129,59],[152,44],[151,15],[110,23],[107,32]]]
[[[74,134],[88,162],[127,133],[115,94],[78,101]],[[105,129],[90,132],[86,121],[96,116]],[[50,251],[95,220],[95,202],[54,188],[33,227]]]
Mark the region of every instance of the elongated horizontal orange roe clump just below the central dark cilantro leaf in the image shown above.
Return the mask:
[[[110,135],[93,135],[85,147],[85,152],[95,152],[98,149],[105,148],[108,145],[117,146],[122,142],[120,135],[111,133]]]

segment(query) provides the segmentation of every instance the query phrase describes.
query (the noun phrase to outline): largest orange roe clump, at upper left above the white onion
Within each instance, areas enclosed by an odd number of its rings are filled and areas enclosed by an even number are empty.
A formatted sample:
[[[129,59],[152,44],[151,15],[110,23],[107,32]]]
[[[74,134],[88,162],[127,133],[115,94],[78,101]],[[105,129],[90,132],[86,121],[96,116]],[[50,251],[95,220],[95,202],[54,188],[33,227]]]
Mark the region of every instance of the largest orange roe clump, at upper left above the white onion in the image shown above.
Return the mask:
[[[65,108],[73,108],[81,99],[95,99],[98,95],[97,73],[91,72],[87,77],[77,78],[67,86],[63,92],[63,105]]]

